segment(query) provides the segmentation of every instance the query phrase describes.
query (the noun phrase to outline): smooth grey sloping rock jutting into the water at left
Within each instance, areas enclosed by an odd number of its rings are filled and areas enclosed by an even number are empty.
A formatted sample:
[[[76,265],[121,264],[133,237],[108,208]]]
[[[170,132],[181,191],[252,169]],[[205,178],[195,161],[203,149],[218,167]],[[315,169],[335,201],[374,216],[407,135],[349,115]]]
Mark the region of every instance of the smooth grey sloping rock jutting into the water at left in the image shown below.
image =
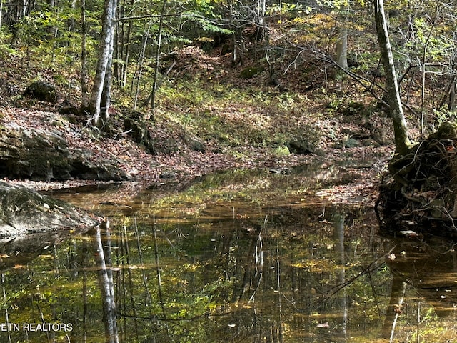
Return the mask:
[[[23,234],[89,229],[99,222],[66,202],[0,182],[0,242]]]

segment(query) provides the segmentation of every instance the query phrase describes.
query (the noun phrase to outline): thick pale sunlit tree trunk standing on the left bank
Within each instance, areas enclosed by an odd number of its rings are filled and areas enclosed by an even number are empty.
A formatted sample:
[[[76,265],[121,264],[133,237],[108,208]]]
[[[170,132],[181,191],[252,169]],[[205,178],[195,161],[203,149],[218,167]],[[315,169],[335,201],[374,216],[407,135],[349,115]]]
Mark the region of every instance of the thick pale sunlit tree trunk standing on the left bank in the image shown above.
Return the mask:
[[[89,104],[89,114],[92,116],[92,123],[101,126],[100,116],[107,119],[108,109],[106,99],[110,96],[106,92],[110,91],[110,86],[105,85],[111,82],[111,59],[113,54],[114,39],[114,19],[116,18],[116,0],[105,0],[104,16],[101,26],[101,41],[99,48],[99,59],[96,66],[94,87],[92,88],[91,101]],[[108,73],[107,73],[108,71]],[[108,75],[106,75],[108,74]],[[105,92],[105,94],[104,94]],[[104,103],[102,103],[102,97]],[[109,104],[109,101],[108,101]],[[101,109],[104,106],[104,109]]]

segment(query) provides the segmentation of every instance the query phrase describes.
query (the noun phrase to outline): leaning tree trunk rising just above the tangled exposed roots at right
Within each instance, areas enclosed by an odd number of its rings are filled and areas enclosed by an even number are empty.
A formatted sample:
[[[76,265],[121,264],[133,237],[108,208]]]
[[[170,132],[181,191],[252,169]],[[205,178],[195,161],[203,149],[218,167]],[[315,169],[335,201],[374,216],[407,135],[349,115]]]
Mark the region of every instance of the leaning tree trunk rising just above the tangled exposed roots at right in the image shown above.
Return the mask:
[[[379,49],[381,50],[381,60],[384,71],[386,72],[386,99],[393,121],[395,153],[398,156],[403,156],[411,146],[411,142],[408,139],[408,127],[406,126],[403,107],[401,105],[400,90],[398,89],[395,66],[393,64],[391,43],[388,38],[383,0],[374,1],[374,18],[376,22],[376,33],[378,34]]]

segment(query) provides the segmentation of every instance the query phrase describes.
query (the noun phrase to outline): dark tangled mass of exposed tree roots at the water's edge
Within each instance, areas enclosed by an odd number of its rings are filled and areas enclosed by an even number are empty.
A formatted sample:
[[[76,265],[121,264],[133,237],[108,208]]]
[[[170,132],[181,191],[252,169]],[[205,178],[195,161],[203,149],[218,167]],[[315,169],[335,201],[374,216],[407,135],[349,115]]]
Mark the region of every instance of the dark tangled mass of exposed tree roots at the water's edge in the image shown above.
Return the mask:
[[[435,134],[389,163],[376,204],[381,232],[401,230],[457,238],[457,126]]]

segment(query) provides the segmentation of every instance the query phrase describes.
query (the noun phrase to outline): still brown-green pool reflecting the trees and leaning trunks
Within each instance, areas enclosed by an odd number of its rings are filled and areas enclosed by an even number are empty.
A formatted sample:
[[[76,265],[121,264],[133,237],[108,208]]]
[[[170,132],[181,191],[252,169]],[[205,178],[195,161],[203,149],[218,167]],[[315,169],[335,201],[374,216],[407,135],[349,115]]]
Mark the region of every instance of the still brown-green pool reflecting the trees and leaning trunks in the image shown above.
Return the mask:
[[[457,342],[453,245],[316,196],[354,173],[52,192],[109,223],[3,247],[0,342]]]

